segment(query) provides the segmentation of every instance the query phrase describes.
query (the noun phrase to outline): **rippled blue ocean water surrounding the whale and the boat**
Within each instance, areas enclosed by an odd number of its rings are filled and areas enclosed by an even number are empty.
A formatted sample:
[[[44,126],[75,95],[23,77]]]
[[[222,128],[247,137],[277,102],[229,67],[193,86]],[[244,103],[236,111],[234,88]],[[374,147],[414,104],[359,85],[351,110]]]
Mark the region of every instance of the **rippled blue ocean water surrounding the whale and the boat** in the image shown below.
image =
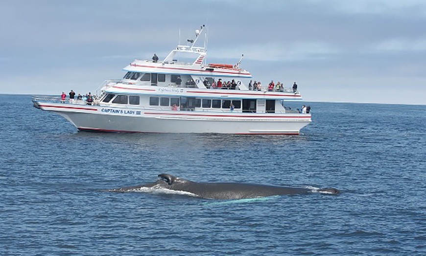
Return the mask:
[[[110,134],[0,95],[0,255],[425,255],[426,106],[308,105],[299,136]],[[342,193],[104,191],[164,172]]]

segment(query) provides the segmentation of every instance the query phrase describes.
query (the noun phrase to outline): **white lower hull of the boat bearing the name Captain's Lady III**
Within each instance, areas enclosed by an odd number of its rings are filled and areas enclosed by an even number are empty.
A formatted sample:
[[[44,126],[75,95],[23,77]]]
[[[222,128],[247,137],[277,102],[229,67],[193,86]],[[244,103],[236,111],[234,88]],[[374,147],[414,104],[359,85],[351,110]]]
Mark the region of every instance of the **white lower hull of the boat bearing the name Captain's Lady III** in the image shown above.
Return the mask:
[[[82,131],[297,135],[310,114],[172,111],[43,104]]]

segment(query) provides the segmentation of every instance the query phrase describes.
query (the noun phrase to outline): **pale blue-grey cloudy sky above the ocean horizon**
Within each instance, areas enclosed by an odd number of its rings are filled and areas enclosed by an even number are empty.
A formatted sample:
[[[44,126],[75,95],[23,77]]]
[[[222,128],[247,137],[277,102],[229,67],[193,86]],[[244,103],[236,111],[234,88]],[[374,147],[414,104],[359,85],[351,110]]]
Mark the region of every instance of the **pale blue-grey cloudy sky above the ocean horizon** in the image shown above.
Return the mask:
[[[95,91],[205,24],[208,63],[306,101],[426,105],[425,0],[0,0],[0,24],[2,94]]]

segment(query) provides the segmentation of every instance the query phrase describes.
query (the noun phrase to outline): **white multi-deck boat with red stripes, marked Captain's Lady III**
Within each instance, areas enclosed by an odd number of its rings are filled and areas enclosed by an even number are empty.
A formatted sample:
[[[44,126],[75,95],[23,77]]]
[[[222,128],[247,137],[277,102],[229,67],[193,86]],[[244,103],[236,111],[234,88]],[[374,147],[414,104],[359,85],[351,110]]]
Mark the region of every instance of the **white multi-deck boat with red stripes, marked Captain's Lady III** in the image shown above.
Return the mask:
[[[163,61],[153,57],[126,66],[123,79],[105,81],[93,102],[33,96],[34,106],[60,114],[81,131],[299,134],[311,122],[310,113],[284,107],[302,100],[299,91],[252,89],[241,60],[206,64],[206,47],[194,46],[203,28]],[[220,87],[219,80],[234,83]]]

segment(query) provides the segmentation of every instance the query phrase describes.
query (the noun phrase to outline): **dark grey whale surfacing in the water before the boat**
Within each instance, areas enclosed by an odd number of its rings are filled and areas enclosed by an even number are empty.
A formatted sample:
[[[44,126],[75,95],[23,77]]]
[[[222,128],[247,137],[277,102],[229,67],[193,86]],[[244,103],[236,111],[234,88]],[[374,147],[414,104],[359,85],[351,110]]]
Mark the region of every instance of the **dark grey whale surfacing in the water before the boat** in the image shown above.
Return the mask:
[[[339,190],[334,188],[312,189],[236,182],[194,182],[167,173],[159,174],[158,179],[153,183],[112,189],[109,191],[132,192],[143,188],[187,192],[191,195],[206,199],[245,199],[274,195],[309,194],[314,192],[331,195],[340,193]]]

